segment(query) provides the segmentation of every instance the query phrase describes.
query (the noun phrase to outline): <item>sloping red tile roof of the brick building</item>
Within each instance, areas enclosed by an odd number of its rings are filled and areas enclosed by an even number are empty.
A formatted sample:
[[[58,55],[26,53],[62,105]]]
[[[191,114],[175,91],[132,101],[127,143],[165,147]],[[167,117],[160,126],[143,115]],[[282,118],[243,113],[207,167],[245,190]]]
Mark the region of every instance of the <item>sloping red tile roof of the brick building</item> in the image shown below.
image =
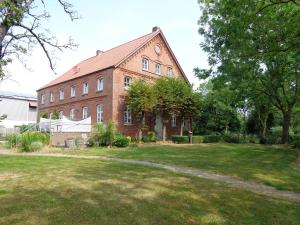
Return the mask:
[[[107,69],[110,67],[117,66],[120,62],[122,62],[125,58],[135,52],[137,49],[145,45],[148,41],[150,41],[153,37],[160,33],[160,30],[137,38],[133,41],[127,42],[105,52],[102,52],[99,55],[93,56],[89,59],[86,59],[72,69],[62,74],[58,78],[54,79],[50,83],[43,86],[41,89],[46,87],[53,86],[55,84],[59,84],[68,80],[72,80],[96,71],[100,71],[103,69]]]

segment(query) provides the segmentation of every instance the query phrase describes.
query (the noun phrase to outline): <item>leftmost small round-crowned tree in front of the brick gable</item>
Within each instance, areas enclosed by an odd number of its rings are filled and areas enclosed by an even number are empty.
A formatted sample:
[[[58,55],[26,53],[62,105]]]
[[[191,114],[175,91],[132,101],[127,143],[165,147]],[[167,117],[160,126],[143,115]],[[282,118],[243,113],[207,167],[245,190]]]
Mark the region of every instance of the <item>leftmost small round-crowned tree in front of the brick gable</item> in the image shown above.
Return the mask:
[[[139,140],[142,139],[142,130],[145,126],[146,113],[152,112],[156,105],[153,88],[142,80],[133,83],[125,97],[125,102],[136,115],[139,130]]]

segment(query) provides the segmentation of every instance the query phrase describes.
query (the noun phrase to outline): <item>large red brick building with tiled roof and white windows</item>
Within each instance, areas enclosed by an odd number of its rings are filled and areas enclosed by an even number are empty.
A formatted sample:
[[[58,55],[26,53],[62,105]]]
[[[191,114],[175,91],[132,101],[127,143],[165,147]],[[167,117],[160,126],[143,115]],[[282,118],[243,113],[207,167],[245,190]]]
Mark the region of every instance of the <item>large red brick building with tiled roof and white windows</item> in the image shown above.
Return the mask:
[[[165,36],[158,27],[150,34],[127,42],[75,65],[72,69],[40,88],[39,113],[59,112],[73,120],[91,116],[92,123],[113,120],[118,130],[137,135],[134,115],[124,103],[126,89],[133,80],[153,82],[162,76],[180,77],[189,83]],[[146,123],[159,137],[159,115],[148,115]],[[167,135],[179,134],[176,116],[167,126]]]

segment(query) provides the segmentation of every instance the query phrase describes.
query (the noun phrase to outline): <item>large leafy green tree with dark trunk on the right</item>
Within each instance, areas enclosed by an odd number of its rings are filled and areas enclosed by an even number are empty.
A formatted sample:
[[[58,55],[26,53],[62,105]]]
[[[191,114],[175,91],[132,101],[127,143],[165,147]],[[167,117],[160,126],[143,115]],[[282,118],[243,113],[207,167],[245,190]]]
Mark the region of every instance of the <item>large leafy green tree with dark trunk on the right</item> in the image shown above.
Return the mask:
[[[300,96],[300,7],[297,1],[200,0],[199,32],[211,69],[201,77],[220,77],[268,98],[282,114],[282,143],[288,142],[293,110]],[[268,1],[267,1],[268,2]],[[241,89],[243,92],[244,89]]]

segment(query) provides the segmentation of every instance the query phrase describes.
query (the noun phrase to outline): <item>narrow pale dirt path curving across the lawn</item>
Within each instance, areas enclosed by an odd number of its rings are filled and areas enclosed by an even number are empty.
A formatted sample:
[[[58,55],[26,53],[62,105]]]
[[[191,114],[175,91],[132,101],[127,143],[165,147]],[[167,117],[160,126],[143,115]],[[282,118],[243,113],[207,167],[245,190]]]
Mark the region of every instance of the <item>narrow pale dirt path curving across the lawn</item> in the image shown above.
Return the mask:
[[[121,163],[129,163],[129,164],[139,164],[147,167],[154,167],[154,168],[160,168],[160,169],[166,169],[169,171],[173,171],[176,173],[181,174],[188,174],[193,175],[209,180],[214,181],[221,181],[224,182],[230,186],[237,187],[240,189],[244,189],[247,191],[252,191],[258,194],[267,195],[270,197],[275,198],[282,198],[286,200],[292,200],[300,202],[300,193],[291,192],[291,191],[280,191],[273,187],[255,183],[255,182],[249,182],[249,181],[242,181],[230,176],[224,176],[220,174],[205,172],[199,169],[193,169],[189,167],[182,167],[182,166],[176,166],[176,165],[166,165],[166,164],[160,164],[160,163],[152,163],[148,161],[141,161],[141,160],[130,160],[130,159],[120,159],[120,158],[110,158],[110,157],[104,157],[104,156],[83,156],[83,155],[67,155],[67,154],[45,154],[45,153],[13,153],[5,150],[1,150],[0,154],[2,155],[13,155],[13,156],[47,156],[47,157],[65,157],[65,158],[76,158],[76,159],[97,159],[97,160],[105,160],[105,161],[116,161]]]

